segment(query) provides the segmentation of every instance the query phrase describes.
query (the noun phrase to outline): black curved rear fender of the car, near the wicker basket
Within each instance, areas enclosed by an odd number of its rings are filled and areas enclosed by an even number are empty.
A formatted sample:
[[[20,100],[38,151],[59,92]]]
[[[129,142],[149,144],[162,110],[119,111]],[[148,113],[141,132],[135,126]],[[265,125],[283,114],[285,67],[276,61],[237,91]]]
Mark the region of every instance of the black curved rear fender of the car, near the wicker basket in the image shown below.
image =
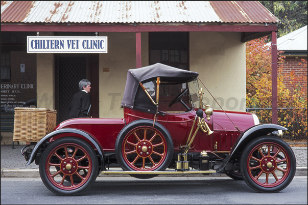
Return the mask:
[[[94,147],[97,149],[97,151],[99,152],[100,159],[101,159],[101,162],[100,162],[101,170],[104,169],[105,156],[104,156],[104,151],[103,151],[100,143],[91,134],[89,134],[89,133],[87,133],[87,132],[85,132],[83,130],[76,129],[76,128],[62,128],[62,129],[59,129],[59,130],[55,130],[55,131],[45,135],[43,138],[41,138],[41,140],[39,140],[37,142],[37,144],[35,145],[35,147],[34,147],[32,153],[31,153],[31,156],[30,156],[29,161],[27,162],[26,166],[28,166],[29,164],[31,164],[35,160],[36,155],[37,155],[39,149],[42,147],[42,145],[46,141],[48,141],[52,137],[55,137],[55,136],[57,136],[59,134],[65,134],[65,133],[78,134],[78,135],[81,135],[81,136],[85,137],[86,139],[88,139],[94,145]]]

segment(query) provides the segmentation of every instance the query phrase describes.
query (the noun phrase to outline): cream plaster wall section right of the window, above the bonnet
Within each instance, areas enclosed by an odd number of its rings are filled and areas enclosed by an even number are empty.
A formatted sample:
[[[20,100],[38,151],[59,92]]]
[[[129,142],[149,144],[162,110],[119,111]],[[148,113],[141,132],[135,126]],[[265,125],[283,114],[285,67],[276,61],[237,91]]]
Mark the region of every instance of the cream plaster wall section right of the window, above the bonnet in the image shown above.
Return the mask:
[[[199,73],[200,79],[225,110],[245,111],[245,43],[240,40],[241,33],[189,33],[190,70]],[[203,85],[200,83],[199,86]],[[213,109],[220,109],[204,88],[203,91],[203,101]]]

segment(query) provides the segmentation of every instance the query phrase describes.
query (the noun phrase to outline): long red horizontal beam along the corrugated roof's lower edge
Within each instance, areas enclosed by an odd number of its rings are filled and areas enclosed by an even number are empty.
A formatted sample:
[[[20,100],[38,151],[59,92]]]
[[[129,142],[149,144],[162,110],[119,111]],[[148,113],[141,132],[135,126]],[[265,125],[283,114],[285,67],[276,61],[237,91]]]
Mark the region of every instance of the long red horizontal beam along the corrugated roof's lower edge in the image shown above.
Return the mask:
[[[277,25],[2,24],[2,32],[272,32]]]

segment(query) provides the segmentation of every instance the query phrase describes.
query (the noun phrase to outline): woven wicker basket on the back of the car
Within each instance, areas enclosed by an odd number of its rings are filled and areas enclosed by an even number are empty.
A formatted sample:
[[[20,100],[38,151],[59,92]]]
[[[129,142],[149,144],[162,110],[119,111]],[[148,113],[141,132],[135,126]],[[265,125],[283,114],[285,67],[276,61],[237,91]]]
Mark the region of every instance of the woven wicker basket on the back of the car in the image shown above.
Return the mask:
[[[57,111],[46,108],[15,108],[13,141],[37,142],[57,125]]]

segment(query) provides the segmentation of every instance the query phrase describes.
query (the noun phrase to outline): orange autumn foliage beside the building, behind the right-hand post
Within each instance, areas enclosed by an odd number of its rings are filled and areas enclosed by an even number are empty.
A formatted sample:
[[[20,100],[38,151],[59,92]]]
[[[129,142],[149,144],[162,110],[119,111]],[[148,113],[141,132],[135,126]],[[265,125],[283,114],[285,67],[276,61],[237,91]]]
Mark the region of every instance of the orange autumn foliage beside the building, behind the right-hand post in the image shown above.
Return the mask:
[[[272,106],[272,67],[271,44],[267,37],[246,43],[246,107],[271,108]],[[286,139],[307,138],[307,75],[282,75],[285,56],[278,51],[278,124],[288,128]],[[300,65],[307,68],[307,61]],[[283,79],[287,78],[292,89],[287,89]],[[272,111],[256,110],[260,123],[271,123]]]

